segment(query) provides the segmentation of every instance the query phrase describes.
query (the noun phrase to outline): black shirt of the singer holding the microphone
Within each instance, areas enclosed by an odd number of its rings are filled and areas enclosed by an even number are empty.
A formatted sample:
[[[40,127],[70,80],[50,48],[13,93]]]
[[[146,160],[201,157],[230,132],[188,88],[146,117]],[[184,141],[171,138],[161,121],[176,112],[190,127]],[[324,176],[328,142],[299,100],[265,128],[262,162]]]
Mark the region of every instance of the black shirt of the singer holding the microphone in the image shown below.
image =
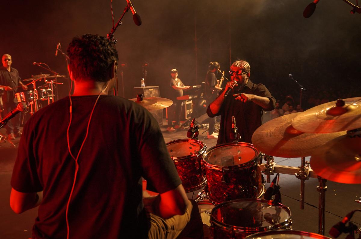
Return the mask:
[[[223,90],[219,94],[222,94]],[[253,103],[252,101],[243,103],[240,100],[236,100],[233,96],[233,94],[237,93],[267,97],[273,104],[270,108],[263,109],[261,106]],[[248,80],[247,84],[243,88],[237,87],[228,94],[217,114],[212,114],[208,106],[207,114],[209,117],[218,115],[221,116],[217,145],[233,141],[230,138],[230,132],[232,130],[232,116],[236,119],[238,134],[241,136],[240,142],[252,143],[251,140],[253,132],[262,125],[263,110],[271,111],[274,109],[275,104],[276,100],[273,98],[266,86],[262,84],[256,85],[253,84],[251,80]]]

